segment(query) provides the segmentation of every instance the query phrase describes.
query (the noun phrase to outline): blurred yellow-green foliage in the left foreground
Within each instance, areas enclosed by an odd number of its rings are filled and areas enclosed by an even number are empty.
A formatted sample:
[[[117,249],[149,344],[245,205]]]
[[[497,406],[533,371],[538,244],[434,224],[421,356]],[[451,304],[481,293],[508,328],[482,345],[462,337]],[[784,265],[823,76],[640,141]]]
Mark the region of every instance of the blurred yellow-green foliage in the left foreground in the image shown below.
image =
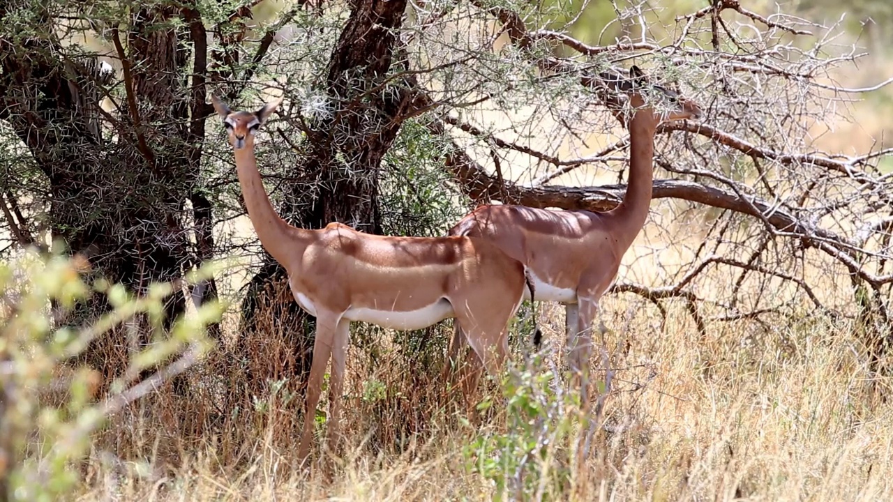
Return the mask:
[[[204,329],[220,319],[221,304],[202,306],[181,318],[164,339],[156,339],[129,358],[126,372],[109,395],[94,402],[101,381],[88,368],[67,362],[90,342],[140,319],[160,322],[170,284],[154,284],[145,297],[131,297],[120,285],[81,280],[84,263],[62,255],[28,255],[15,264],[0,263],[0,489],[10,499],[54,500],[74,488],[72,463],[88,454],[91,433],[123,406],[144,396],[166,376],[188,367],[212,342]],[[203,272],[204,273],[204,272]],[[55,328],[49,305],[63,310],[91,295],[104,295],[111,310],[88,325]],[[153,382],[130,381],[139,372],[186,350],[179,370],[159,370]],[[59,394],[49,399],[47,394]],[[51,402],[54,401],[54,402]]]

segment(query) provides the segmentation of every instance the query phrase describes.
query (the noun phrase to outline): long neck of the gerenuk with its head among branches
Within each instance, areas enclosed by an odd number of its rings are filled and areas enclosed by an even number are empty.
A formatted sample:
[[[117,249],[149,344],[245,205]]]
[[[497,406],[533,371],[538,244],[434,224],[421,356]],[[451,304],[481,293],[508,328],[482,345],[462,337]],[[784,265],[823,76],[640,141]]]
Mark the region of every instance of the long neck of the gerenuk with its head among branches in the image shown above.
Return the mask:
[[[639,108],[630,121],[630,182],[623,201],[610,212],[615,237],[624,251],[645,225],[654,178],[656,121],[650,108]]]

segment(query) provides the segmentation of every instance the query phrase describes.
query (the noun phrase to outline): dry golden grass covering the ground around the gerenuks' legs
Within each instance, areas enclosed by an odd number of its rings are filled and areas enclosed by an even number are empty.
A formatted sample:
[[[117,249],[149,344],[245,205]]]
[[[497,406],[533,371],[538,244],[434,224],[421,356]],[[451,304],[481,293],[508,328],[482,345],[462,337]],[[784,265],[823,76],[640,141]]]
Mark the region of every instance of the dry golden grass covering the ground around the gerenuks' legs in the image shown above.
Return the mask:
[[[805,312],[769,330],[715,324],[701,337],[683,309],[670,309],[663,322],[630,297],[605,304],[619,369],[608,426],[585,467],[571,470],[560,492],[547,487],[544,498],[893,498],[893,404],[881,398],[888,383],[868,371],[847,322]],[[540,313],[547,339],[560,345],[561,311],[547,305]],[[96,438],[82,467],[86,482],[73,497],[495,498],[494,484],[474,472],[463,448],[480,435],[507,432],[509,420],[504,405],[477,426],[455,411],[457,396],[438,379],[445,330],[422,335],[429,345],[415,351],[385,331],[360,330],[355,337],[367,341],[348,359],[345,448],[333,464],[314,464],[310,473],[297,468],[299,385],[275,389],[257,372],[246,377],[224,347],[192,372],[186,396],[161,389],[115,418]],[[292,354],[283,338],[249,341],[248,360],[282,378]],[[523,359],[522,345],[515,361]],[[555,445],[538,471],[566,466],[565,447]],[[533,492],[522,498],[538,499]]]

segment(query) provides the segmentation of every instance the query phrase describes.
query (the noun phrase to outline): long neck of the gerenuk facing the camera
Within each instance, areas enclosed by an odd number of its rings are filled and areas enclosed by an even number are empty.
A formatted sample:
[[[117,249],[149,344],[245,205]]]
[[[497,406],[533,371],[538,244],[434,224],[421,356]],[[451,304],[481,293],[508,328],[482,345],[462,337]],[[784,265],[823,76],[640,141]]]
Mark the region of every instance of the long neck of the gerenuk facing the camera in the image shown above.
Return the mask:
[[[299,252],[295,237],[300,230],[289,225],[273,209],[270,197],[263,189],[261,173],[257,171],[254,140],[249,136],[246,145],[235,150],[238,183],[242,187],[242,197],[245,197],[248,218],[255,226],[263,248],[277,262],[288,268],[288,255]]]

